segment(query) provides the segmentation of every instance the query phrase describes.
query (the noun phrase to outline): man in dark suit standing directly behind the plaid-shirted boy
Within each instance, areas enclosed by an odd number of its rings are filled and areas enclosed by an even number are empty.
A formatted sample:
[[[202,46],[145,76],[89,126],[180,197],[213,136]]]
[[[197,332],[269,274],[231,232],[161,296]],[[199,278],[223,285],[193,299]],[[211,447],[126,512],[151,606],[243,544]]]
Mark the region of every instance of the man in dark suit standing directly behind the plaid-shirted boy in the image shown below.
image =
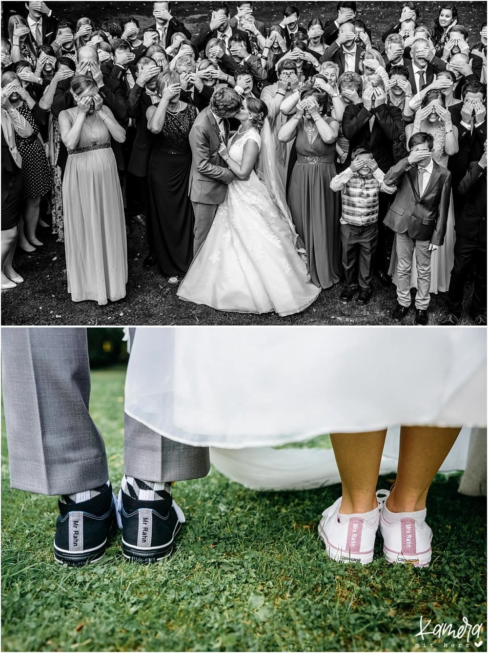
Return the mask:
[[[361,93],[361,85],[357,89]],[[385,84],[379,75],[371,75],[363,89],[362,97],[357,91],[348,93],[353,104],[347,104],[342,116],[342,133],[350,142],[349,151],[357,147],[367,147],[378,167],[387,172],[395,163],[393,158],[393,142],[402,133],[402,112],[397,106],[389,106],[386,102]],[[348,154],[344,165],[351,162]],[[381,283],[390,285],[388,268],[393,247],[393,234],[383,223],[387,212],[389,197],[380,193],[378,210],[378,247],[376,249],[375,268]]]

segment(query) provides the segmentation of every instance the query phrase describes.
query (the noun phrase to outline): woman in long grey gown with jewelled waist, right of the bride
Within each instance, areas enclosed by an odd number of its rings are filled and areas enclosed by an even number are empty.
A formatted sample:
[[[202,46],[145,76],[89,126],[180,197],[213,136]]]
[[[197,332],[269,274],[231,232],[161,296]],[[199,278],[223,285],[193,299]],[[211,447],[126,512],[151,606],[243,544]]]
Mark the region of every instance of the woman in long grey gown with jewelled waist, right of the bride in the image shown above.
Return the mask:
[[[340,197],[330,188],[339,123],[330,117],[331,100],[317,89],[304,91],[297,112],[278,133],[295,138],[297,163],[291,174],[288,204],[305,244],[312,281],[330,288],[340,279]]]

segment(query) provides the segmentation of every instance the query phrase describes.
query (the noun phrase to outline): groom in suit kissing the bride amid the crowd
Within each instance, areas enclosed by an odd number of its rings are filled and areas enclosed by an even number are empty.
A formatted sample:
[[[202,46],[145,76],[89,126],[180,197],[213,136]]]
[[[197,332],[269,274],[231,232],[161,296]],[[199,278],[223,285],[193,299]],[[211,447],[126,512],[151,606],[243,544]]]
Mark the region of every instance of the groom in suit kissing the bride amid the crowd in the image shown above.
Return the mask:
[[[219,146],[227,144],[229,122],[242,106],[240,95],[229,88],[214,91],[210,106],[197,116],[189,133],[193,160],[189,178],[189,198],[195,214],[193,255],[212,227],[219,204],[227,195],[227,184],[235,175],[221,159]]]

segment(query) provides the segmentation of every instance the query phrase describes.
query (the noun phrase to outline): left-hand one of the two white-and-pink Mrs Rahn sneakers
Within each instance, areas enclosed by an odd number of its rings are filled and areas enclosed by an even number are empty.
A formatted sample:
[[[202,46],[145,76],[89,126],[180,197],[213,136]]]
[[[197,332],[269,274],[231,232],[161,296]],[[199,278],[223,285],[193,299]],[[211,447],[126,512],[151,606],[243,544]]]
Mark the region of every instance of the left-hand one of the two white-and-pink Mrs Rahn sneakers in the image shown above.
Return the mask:
[[[327,555],[337,562],[372,562],[374,538],[380,518],[378,508],[369,513],[339,515],[342,497],[323,511],[319,535]]]

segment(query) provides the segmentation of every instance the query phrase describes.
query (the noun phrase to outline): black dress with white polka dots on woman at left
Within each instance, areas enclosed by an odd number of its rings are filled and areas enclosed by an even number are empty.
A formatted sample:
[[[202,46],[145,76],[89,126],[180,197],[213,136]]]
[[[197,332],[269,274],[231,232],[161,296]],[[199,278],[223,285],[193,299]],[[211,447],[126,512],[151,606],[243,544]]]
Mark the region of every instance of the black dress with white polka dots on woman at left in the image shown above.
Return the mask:
[[[27,103],[18,107],[18,112],[32,125],[33,134],[28,138],[15,135],[15,144],[22,157],[22,176],[24,177],[24,197],[34,198],[49,193],[52,186],[51,168],[46,152],[37,137],[39,127]]]

